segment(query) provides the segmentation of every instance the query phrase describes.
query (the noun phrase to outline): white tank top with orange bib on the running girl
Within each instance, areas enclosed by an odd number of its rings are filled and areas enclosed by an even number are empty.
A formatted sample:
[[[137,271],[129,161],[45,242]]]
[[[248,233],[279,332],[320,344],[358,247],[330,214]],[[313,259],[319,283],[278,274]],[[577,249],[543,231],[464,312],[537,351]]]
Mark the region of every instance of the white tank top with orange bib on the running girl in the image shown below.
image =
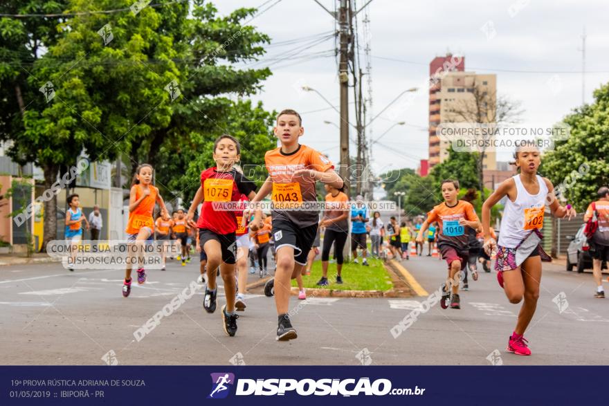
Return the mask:
[[[519,174],[512,178],[516,183],[516,200],[506,200],[498,241],[506,248],[516,248],[534,228],[541,230],[547,197],[547,185],[541,176],[537,175],[538,194],[527,192]]]

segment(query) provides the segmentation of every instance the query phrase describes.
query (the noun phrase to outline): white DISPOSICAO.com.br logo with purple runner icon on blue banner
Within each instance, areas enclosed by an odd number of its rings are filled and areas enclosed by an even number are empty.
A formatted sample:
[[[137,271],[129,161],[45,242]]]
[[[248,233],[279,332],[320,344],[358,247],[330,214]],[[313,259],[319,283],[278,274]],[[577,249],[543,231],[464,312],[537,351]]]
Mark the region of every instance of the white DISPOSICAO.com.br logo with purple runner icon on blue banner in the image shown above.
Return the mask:
[[[212,391],[208,398],[226,398],[230,387],[235,384],[233,373],[212,373]],[[295,392],[299,396],[385,396],[385,395],[422,395],[425,389],[418,386],[412,388],[392,389],[392,383],[388,379],[370,378],[347,378],[347,379],[246,379],[237,380],[235,396],[284,396],[286,392]]]

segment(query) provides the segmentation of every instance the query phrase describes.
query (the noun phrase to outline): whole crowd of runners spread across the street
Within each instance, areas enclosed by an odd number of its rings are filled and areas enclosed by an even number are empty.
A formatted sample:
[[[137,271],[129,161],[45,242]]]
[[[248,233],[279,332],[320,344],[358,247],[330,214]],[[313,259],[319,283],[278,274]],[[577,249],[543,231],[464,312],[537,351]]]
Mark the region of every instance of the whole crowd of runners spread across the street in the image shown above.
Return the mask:
[[[336,264],[333,282],[342,284],[343,252],[350,223],[350,250],[355,264],[360,264],[361,252],[361,266],[369,265],[368,235],[371,255],[377,258],[409,259],[411,255],[435,256],[439,251],[448,268],[440,300],[442,308],[459,309],[460,289],[469,288],[468,271],[476,281],[478,263],[490,273],[491,256],[495,256],[498,284],[509,302],[522,303],[507,351],[530,355],[524,334],[536,310],[541,262],[549,260],[540,245],[545,210],[549,208],[552,216],[561,219],[572,219],[576,215],[571,205],[563,206],[553,198],[552,183],[537,174],[540,166],[537,149],[516,151],[513,158],[518,174],[501,183],[484,201],[482,219],[470,203],[478,199],[476,192],[468,191],[459,199],[459,181],[447,179],[441,185],[443,201],[425,218],[397,221],[392,216],[385,224],[379,212],[368,212],[362,196],[356,196],[355,203],[350,204],[343,179],[334,172],[334,165],[315,149],[300,144],[304,129],[296,111],[282,111],[274,133],[281,145],[266,152],[264,160],[269,176],[258,189],[239,169],[239,141],[228,134],[215,140],[212,154],[216,165],[201,172],[199,189],[187,212],[176,210],[170,216],[158,189],[151,183],[154,170],[151,165],[137,168],[131,186],[128,241],[134,246],[143,246],[156,234],[156,240],[162,244],[176,243],[180,250],[176,259],[182,266],[190,262],[191,252],[197,250],[199,282],[206,285],[203,308],[208,313],[216,311],[217,277],[224,282],[226,303],[220,313],[227,335],[237,332],[235,312],[246,308],[248,273],[267,275],[270,251],[275,270],[274,277],[266,283],[265,293],[275,297],[277,340],[297,338],[289,317],[291,279],[297,281],[299,299],[305,299],[302,276],[310,274],[313,259],[321,254],[322,277],[317,285],[328,286],[333,252]],[[321,218],[317,210],[299,209],[302,203],[317,201],[318,182],[327,192],[326,209]],[[588,207],[584,221],[594,258],[594,279],[598,286],[595,297],[604,297],[601,263],[609,259],[609,189],[601,187],[598,193],[599,200]],[[264,214],[260,202],[269,194],[273,208]],[[502,199],[505,207],[497,239],[491,227],[491,208]],[[69,196],[68,203],[66,238],[78,241],[79,235],[82,236],[82,221],[88,225],[87,220],[78,207],[78,195]],[[224,203],[237,203],[237,210],[223,209]],[[157,204],[160,216],[154,221]],[[162,261],[162,270],[165,270],[165,255]],[[138,284],[144,284],[147,275],[143,265],[138,266],[136,273]],[[122,286],[125,297],[131,293],[131,282],[128,266]]]

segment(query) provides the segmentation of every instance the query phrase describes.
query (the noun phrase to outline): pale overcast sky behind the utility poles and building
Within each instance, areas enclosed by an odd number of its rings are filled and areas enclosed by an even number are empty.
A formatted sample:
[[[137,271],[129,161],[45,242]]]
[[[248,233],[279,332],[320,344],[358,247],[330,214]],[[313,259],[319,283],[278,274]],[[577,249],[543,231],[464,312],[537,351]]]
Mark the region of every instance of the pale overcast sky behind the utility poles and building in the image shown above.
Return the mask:
[[[336,1],[320,1],[334,10]],[[260,6],[264,0],[216,0],[214,3],[221,14],[226,14],[239,7]],[[357,3],[361,6],[365,1]],[[372,124],[372,138],[376,138],[393,122],[408,123],[394,127],[383,136],[383,146],[375,145],[373,163],[379,168],[388,165],[393,169],[416,168],[419,159],[428,158],[428,90],[422,86],[428,78],[429,62],[448,50],[464,55],[466,71],[495,73],[498,93],[520,101],[525,109],[524,121],[531,124],[551,125],[581,105],[579,72],[584,26],[586,71],[590,72],[585,75],[586,102],[592,101],[594,89],[609,81],[609,3],[606,0],[373,0],[368,11],[373,114],[402,91],[419,87],[410,107],[405,109],[397,102],[394,109]],[[361,15],[363,17],[363,12]],[[487,24],[489,21],[491,24]],[[334,30],[332,17],[313,0],[279,1],[251,24],[270,35],[273,43]],[[487,29],[483,30],[485,24]],[[336,59],[316,57],[328,54],[322,51],[333,50],[334,39],[302,50],[302,55],[309,55],[305,59],[293,59],[297,47],[305,48],[308,44],[311,42],[298,42],[296,46],[277,44],[269,48],[264,57],[267,62],[263,64],[269,64],[273,75],[264,82],[264,90],[255,95],[254,100],[262,100],[269,110],[293,108],[302,112],[305,136],[301,142],[324,151],[336,162],[338,129],[324,124],[324,120],[338,124],[338,113],[332,109],[316,111],[327,108],[328,104],[315,93],[300,91],[300,86],[306,84],[320,91],[332,104],[338,104]],[[316,58],[311,59],[313,57]],[[364,66],[363,52],[361,61]],[[352,95],[350,90],[350,101]],[[354,122],[353,115],[349,119]],[[354,131],[351,136],[355,137]],[[353,143],[350,152],[352,156],[356,153]],[[508,159],[507,156],[498,158]]]

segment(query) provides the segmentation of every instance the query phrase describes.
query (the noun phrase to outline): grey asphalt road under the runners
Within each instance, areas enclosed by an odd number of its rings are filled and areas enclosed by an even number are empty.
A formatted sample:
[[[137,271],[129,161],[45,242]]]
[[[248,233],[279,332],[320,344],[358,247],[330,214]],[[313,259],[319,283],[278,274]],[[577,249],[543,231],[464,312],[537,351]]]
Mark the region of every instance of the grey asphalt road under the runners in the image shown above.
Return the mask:
[[[445,278],[443,261],[402,261],[428,293]],[[291,299],[298,340],[276,342],[274,300],[253,294],[234,338],[219,308],[207,314],[203,291],[186,299],[140,341],[134,332],[198,275],[198,264],[174,261],[121,295],[122,270],[76,270],[60,264],[0,270],[1,365],[607,365],[609,299],[595,299],[591,273],[544,265],[537,313],[525,334],[533,355],[505,353],[520,305],[509,304],[495,273],[480,270],[463,292],[462,309],[439,304],[401,335],[390,329],[426,296],[407,299]],[[349,275],[343,276],[348,279]],[[553,299],[563,293],[562,308]],[[176,300],[174,300],[176,302]],[[497,350],[497,351],[496,351]],[[494,353],[493,358],[489,357]],[[111,357],[106,356],[111,354]],[[106,356],[104,358],[104,356]],[[102,360],[104,358],[104,360]],[[489,359],[487,359],[489,358]]]

